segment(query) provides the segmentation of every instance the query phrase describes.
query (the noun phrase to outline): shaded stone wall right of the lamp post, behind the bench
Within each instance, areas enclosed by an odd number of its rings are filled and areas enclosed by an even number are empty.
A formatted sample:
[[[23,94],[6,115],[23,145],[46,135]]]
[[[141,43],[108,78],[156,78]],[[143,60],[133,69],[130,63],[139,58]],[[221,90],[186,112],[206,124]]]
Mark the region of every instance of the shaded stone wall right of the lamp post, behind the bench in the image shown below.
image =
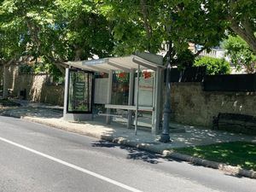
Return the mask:
[[[256,92],[203,91],[201,83],[172,84],[172,119],[188,125],[212,126],[218,113],[256,116]]]

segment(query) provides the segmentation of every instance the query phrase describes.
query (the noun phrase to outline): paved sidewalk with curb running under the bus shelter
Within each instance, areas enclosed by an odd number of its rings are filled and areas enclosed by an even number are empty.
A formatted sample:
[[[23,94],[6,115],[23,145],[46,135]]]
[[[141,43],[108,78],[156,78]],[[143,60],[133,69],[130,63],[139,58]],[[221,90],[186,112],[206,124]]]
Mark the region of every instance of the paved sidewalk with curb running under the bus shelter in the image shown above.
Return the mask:
[[[20,101],[18,101],[20,102]],[[172,156],[182,160],[189,160],[197,164],[212,166],[228,172],[235,172],[234,167],[224,166],[218,163],[192,158],[188,155],[173,153],[173,148],[184,148],[189,146],[207,145],[212,143],[224,143],[233,141],[247,141],[256,143],[256,137],[243,134],[230,133],[226,131],[212,131],[194,126],[185,126],[172,123],[172,127],[184,129],[185,132],[171,133],[172,143],[160,143],[160,136],[154,136],[150,131],[138,130],[137,135],[134,130],[127,129],[125,125],[113,123],[106,125],[102,120],[67,122],[62,119],[62,108],[42,103],[20,102],[18,108],[0,108],[0,114],[26,119],[44,125],[49,125],[65,131],[72,131],[90,137],[105,139],[115,143],[126,144],[132,147],[143,148],[148,151]],[[231,168],[230,168],[231,167]],[[231,170],[230,170],[231,169]],[[242,174],[242,170],[236,167],[237,174]],[[256,177],[256,172],[250,172],[247,177]]]

